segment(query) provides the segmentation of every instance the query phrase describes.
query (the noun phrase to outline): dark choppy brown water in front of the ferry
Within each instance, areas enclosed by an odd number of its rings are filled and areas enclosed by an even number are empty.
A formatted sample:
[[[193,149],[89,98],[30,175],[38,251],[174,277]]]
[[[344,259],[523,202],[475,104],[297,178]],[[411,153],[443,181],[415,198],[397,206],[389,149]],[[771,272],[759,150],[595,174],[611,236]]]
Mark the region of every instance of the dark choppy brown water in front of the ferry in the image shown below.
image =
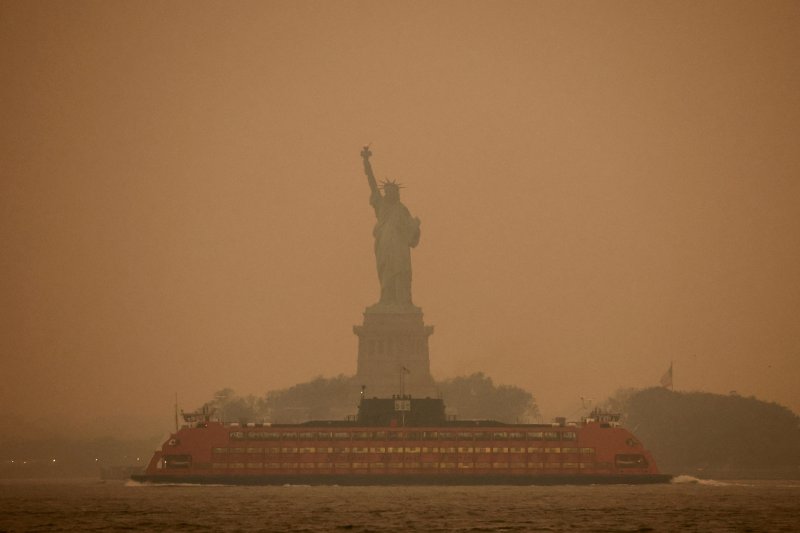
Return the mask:
[[[228,487],[0,480],[0,531],[800,531],[800,481]]]

